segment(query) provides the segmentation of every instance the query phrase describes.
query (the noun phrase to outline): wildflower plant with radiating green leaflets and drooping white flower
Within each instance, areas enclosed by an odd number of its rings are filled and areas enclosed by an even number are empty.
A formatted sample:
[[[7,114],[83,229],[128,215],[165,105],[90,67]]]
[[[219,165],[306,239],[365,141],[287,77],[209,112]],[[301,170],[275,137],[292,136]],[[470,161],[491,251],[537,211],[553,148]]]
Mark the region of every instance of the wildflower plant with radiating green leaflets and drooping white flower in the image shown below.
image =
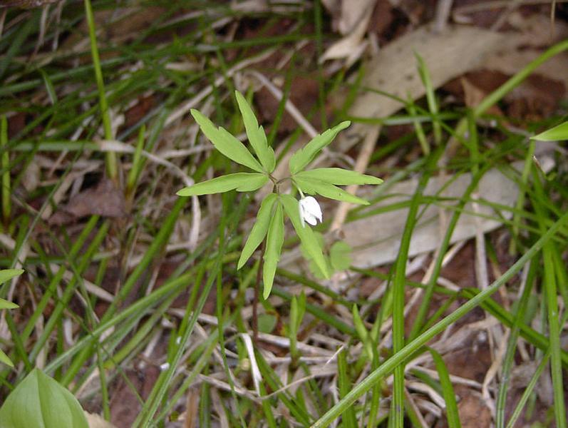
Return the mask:
[[[272,193],[269,193],[262,200],[256,222],[250,231],[246,243],[244,243],[237,263],[237,269],[240,269],[266,239],[262,271],[264,282],[263,295],[266,299],[272,290],[274,275],[282,254],[284,216],[291,220],[291,224],[301,241],[304,253],[318,267],[324,277],[329,277],[329,263],[324,258],[319,240],[309,226],[316,225],[317,221],[321,222],[323,218],[319,203],[311,195],[320,195],[324,198],[342,200],[348,203],[368,205],[368,201],[351,195],[337,186],[381,184],[383,180],[342,168],[307,169],[319,152],[328,146],[340,131],[343,131],[351,124],[349,121],[341,122],[334,128],[328,129],[314,137],[306,146],[291,156],[289,161],[290,175],[282,178],[274,177],[272,173],[274,168],[276,168],[276,158],[274,157],[274,150],[268,146],[266,133],[264,133],[262,126],[259,126],[257,118],[254,116],[252,108],[244,96],[238,91],[235,91],[235,96],[237,97],[239,110],[244,121],[244,128],[254,156],[231,133],[222,127],[217,128],[202,113],[192,109],[191,114],[200,126],[201,131],[220,153],[254,172],[222,175],[212,178],[212,180],[183,188],[177,192],[177,195],[198,196],[222,193],[229,190],[250,192],[272,182]],[[300,200],[293,195],[281,193],[280,185],[286,180],[290,180],[291,185],[298,190],[301,195]],[[306,225],[306,223],[309,225]]]

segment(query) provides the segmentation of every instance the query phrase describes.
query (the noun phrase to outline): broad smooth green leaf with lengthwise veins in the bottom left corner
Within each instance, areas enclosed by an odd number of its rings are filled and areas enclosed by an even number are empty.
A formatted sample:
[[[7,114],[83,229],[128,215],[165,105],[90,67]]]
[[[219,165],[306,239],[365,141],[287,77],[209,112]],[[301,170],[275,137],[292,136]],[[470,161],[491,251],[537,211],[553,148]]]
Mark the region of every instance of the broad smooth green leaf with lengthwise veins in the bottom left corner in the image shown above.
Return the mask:
[[[81,404],[54,379],[33,369],[6,398],[0,428],[88,428]]]

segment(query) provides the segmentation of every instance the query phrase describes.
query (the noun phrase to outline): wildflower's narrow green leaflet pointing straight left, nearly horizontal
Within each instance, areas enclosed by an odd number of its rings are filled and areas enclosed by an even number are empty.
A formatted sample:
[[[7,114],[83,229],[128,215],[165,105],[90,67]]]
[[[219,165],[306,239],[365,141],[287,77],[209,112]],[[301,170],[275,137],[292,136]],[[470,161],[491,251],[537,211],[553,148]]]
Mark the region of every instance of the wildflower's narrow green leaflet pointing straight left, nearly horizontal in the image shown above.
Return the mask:
[[[234,173],[202,181],[190,187],[177,190],[178,196],[210,195],[211,193],[228,192],[236,189],[237,192],[249,192],[262,188],[268,181],[268,176],[260,173]]]

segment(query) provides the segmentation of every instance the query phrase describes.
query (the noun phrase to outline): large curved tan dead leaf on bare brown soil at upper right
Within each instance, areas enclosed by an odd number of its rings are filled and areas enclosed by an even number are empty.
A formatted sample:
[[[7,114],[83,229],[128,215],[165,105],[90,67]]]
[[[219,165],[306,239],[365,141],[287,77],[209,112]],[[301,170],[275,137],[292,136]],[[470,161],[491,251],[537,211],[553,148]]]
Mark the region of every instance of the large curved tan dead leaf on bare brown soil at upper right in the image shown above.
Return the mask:
[[[503,39],[502,34],[469,26],[448,26],[443,34],[434,34],[428,26],[422,26],[386,45],[368,61],[365,68],[369,73],[361,87],[392,93],[405,100],[408,96],[421,98],[425,88],[418,76],[415,53],[420,54],[428,66],[433,87],[439,88],[477,68],[485,56],[498,49]],[[349,113],[356,117],[384,118],[403,107],[396,99],[367,91],[358,96]],[[346,153],[371,127],[354,123],[345,136],[340,135],[339,151]]]

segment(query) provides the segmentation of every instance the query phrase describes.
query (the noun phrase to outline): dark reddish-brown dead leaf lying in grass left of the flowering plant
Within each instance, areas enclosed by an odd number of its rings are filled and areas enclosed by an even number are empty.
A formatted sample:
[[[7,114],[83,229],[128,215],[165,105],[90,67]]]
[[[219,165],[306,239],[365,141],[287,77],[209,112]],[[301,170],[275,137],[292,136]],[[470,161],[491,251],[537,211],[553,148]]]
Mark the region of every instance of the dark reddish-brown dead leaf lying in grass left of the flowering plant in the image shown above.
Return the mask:
[[[64,208],[49,219],[52,225],[62,225],[86,215],[123,218],[126,215],[124,195],[112,180],[103,178],[94,188],[73,196]]]

